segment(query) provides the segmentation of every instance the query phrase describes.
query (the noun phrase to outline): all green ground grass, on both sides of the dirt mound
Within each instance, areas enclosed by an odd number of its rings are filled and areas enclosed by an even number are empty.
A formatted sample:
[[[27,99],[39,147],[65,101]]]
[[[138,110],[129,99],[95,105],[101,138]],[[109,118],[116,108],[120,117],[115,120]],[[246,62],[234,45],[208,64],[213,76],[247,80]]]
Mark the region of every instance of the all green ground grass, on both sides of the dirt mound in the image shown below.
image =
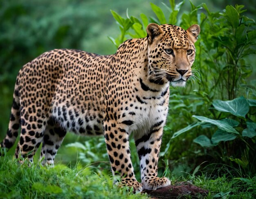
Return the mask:
[[[193,185],[209,190],[200,198],[256,197],[256,177],[242,178],[222,174],[221,177],[201,176],[172,177],[173,183],[189,181]],[[54,168],[19,165],[9,156],[0,157],[0,198],[148,198],[133,194],[128,188],[113,185],[112,175],[107,169],[57,164]],[[184,196],[182,197],[184,198]],[[186,198],[190,198],[187,196]]]

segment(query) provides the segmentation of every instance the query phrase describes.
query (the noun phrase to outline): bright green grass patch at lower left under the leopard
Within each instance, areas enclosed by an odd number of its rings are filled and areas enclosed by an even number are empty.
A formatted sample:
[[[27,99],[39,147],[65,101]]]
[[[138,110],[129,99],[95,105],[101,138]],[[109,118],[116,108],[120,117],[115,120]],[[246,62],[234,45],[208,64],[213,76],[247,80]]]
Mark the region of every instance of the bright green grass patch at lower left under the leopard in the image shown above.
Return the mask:
[[[18,165],[15,159],[0,157],[0,198],[147,198],[113,185],[110,174],[79,164],[54,168],[39,164]]]

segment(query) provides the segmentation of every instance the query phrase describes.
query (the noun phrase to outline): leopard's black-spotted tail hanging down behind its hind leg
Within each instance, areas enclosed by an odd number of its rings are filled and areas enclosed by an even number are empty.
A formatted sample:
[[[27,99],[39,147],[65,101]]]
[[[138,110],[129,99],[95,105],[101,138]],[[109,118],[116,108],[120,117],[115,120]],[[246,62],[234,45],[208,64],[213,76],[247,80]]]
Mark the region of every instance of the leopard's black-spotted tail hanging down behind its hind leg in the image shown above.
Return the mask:
[[[4,140],[0,143],[0,148],[11,148],[18,137],[18,130],[20,128],[20,98],[19,98],[19,87],[18,78],[13,92],[13,103],[11,107],[11,116],[7,134]],[[0,154],[1,155],[1,154]]]

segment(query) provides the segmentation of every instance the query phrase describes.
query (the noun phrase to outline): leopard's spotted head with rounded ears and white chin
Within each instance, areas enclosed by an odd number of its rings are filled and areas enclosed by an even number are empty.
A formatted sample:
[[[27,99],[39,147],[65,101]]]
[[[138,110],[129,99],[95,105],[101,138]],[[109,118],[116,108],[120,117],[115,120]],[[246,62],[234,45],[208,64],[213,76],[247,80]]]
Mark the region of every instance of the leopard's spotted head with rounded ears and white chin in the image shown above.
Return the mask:
[[[147,27],[148,78],[153,81],[168,80],[173,86],[185,86],[191,77],[195,60],[195,45],[200,33],[199,25],[184,30],[175,25]]]

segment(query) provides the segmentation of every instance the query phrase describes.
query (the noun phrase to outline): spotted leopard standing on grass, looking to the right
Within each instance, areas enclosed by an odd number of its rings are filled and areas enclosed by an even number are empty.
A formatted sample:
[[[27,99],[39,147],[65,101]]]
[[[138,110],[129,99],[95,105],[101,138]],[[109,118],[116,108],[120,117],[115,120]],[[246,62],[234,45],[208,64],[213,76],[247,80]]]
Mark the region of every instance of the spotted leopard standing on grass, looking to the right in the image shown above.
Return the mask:
[[[171,87],[184,87],[193,75],[200,26],[150,23],[146,37],[128,39],[115,54],[77,49],[47,51],[25,64],[16,78],[7,135],[1,148],[18,161],[33,162],[42,143],[43,165],[54,159],[67,131],[104,135],[113,175],[136,192],[171,184],[157,176]],[[135,177],[129,138],[132,134],[141,183]]]

